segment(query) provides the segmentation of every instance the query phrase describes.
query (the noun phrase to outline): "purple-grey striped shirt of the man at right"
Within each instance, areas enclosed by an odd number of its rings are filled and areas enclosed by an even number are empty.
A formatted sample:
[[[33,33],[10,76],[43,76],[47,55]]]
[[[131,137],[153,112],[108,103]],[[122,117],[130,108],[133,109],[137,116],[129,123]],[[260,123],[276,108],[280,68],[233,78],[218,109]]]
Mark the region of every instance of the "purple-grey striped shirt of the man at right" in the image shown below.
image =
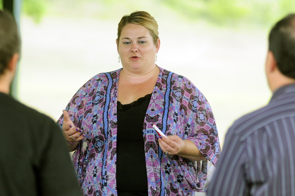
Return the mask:
[[[228,130],[207,195],[295,195],[295,84]]]

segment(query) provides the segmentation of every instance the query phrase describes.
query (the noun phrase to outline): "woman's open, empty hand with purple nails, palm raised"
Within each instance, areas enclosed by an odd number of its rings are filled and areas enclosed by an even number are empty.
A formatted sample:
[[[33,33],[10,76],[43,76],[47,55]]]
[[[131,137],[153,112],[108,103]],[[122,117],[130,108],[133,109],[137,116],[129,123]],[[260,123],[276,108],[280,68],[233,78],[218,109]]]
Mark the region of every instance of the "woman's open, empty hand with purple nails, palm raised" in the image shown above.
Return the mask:
[[[71,151],[74,151],[78,142],[85,137],[82,129],[75,127],[66,110],[63,110],[63,135],[65,136],[66,141],[70,144]]]

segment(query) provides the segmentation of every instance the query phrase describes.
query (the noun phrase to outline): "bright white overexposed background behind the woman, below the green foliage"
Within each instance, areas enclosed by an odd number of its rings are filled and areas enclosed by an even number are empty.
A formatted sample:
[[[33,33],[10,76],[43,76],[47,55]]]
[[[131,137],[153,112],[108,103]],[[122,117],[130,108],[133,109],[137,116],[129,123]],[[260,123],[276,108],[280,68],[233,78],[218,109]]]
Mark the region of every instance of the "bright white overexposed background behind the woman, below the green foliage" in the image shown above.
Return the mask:
[[[35,24],[23,16],[18,99],[57,120],[87,80],[121,68],[115,43],[120,19],[45,16]],[[201,90],[223,144],[235,119],[271,97],[264,74],[268,32],[214,27],[173,14],[155,19],[161,40],[156,64]]]

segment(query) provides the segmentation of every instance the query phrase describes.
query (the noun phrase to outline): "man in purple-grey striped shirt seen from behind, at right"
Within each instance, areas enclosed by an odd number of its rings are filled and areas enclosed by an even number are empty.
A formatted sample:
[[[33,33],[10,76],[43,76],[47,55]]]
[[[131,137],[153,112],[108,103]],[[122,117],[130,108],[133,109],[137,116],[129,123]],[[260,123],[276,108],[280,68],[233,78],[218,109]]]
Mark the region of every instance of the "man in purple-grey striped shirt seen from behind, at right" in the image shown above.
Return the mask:
[[[207,195],[295,195],[295,14],[269,34],[269,104],[228,130]]]

